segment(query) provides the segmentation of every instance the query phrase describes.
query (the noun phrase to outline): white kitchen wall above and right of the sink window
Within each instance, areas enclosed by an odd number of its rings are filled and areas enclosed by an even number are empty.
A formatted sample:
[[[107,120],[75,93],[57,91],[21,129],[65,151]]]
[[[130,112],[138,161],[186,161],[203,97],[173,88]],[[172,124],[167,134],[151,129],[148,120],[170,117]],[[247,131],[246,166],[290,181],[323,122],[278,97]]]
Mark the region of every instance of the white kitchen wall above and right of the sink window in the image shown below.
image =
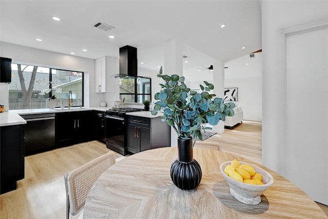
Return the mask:
[[[13,62],[61,68],[65,70],[83,71],[85,72],[84,106],[99,106],[100,102],[104,100],[104,93],[95,93],[94,59],[34,49],[5,42],[0,42],[0,48],[0,55],[12,58]]]

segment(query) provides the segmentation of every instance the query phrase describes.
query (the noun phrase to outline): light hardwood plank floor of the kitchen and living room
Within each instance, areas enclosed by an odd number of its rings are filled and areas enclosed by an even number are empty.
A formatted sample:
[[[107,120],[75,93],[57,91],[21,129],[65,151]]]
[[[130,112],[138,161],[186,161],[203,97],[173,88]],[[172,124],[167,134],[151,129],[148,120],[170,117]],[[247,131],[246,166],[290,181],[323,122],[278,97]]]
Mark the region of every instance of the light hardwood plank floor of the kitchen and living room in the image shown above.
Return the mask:
[[[205,140],[224,152],[261,163],[261,123],[244,121]],[[0,195],[0,218],[65,218],[64,174],[108,152],[97,141],[25,157],[25,178],[17,190]],[[124,156],[116,153],[116,162]],[[318,204],[328,215],[328,207]]]

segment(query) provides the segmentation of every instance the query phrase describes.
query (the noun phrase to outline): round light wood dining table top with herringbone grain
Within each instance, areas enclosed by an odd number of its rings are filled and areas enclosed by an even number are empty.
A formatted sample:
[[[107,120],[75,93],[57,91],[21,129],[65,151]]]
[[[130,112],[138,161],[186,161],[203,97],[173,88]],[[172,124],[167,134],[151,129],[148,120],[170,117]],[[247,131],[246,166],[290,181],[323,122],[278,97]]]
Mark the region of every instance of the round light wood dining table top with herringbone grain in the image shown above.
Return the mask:
[[[193,190],[181,190],[171,180],[177,147],[131,155],[107,169],[91,188],[84,218],[328,218],[295,184],[243,157],[194,148],[202,179]],[[273,185],[258,205],[243,204],[230,194],[219,166],[237,158],[267,170]]]

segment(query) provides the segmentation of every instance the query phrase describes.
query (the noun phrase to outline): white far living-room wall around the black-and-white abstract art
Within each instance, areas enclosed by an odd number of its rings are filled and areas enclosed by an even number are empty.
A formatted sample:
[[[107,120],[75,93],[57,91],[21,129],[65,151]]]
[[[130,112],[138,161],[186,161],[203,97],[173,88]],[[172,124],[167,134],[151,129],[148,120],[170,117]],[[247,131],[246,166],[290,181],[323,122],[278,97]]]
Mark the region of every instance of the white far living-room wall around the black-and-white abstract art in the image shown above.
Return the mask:
[[[224,87],[238,88],[238,101],[233,103],[242,107],[244,120],[262,121],[262,52],[254,55],[224,64],[228,67],[224,70]]]

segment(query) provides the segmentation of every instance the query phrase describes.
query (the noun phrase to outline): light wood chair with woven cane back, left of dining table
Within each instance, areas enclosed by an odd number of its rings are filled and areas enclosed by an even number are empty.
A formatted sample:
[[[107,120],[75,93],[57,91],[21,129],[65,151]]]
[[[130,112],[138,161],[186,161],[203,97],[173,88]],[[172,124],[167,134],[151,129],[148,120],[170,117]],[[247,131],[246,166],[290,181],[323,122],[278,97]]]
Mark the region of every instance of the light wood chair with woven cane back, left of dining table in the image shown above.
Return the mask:
[[[114,164],[115,154],[110,151],[64,175],[67,219],[83,210],[87,195],[94,182]]]

